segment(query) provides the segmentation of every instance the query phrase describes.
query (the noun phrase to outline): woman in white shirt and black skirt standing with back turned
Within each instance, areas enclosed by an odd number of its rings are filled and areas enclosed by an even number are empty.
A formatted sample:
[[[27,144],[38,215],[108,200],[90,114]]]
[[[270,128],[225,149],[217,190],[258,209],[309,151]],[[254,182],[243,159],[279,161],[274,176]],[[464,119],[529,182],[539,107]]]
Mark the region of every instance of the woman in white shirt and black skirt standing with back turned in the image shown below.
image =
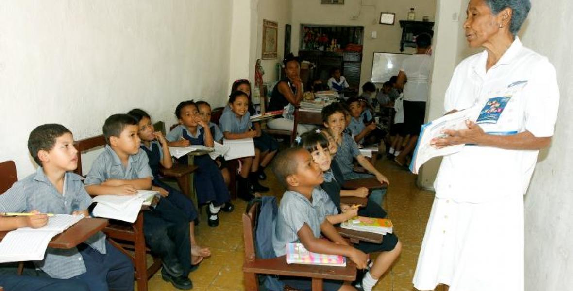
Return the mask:
[[[410,135],[406,147],[394,159],[400,166],[406,164],[406,156],[414,150],[424,123],[432,68],[430,47],[429,34],[422,33],[416,37],[416,54],[402,62],[402,68],[398,73],[397,86],[404,90],[404,133]]]

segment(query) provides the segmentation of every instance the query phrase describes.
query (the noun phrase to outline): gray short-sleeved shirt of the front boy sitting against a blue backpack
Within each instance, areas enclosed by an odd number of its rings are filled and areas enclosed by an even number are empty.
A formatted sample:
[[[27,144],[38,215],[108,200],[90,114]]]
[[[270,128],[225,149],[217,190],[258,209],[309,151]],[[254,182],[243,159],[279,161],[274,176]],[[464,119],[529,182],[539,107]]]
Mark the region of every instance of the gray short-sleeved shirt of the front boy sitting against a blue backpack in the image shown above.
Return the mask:
[[[285,191],[278,206],[277,221],[273,232],[273,249],[277,257],[286,254],[289,242],[300,242],[298,232],[304,223],[315,237],[320,237],[320,225],[327,215],[336,212],[336,206],[320,187],[312,191],[312,202],[296,191]]]

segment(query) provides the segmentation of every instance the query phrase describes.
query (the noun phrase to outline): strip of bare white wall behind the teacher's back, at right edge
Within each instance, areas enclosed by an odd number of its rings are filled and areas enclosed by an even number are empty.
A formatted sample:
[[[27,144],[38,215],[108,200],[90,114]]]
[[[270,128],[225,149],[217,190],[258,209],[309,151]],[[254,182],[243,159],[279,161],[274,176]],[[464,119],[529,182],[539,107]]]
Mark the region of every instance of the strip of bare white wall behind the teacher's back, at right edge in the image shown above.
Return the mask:
[[[525,198],[525,286],[573,289],[573,60],[570,0],[532,1],[522,41],[555,66],[561,100],[551,148],[541,153]]]

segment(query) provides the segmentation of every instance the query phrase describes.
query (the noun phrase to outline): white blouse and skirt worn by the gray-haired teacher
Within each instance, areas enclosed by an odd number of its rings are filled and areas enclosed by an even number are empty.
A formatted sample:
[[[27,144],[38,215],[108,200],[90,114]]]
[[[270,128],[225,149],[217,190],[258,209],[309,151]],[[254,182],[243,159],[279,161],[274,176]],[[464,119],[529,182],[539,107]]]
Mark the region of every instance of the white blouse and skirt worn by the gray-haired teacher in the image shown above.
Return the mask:
[[[457,66],[444,111],[481,109],[485,132],[552,136],[559,105],[554,67],[516,37],[487,72],[488,53]],[[450,291],[524,289],[523,195],[537,150],[466,145],[445,156],[414,275],[414,286]]]

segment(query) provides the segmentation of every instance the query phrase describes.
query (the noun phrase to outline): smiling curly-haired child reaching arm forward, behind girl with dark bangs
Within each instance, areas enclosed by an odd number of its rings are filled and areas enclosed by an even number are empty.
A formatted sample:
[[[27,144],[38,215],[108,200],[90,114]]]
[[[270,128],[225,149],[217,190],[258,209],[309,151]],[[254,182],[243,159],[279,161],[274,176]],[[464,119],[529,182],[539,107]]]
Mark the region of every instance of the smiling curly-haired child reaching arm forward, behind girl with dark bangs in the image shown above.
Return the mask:
[[[352,136],[344,133],[346,119],[344,117],[343,108],[336,103],[327,105],[322,110],[322,117],[324,126],[330,129],[338,146],[335,160],[338,163],[340,170],[342,170],[344,179],[351,180],[370,178],[374,175],[380,184],[389,184],[386,176],[376,170],[376,168],[362,154],[360,154],[358,144],[356,144],[356,141]],[[354,164],[352,163],[354,159],[356,159],[360,166],[372,175],[354,172]],[[372,191],[370,196],[368,196],[368,199],[378,205],[382,205],[382,198],[385,192],[385,189],[376,189]]]

